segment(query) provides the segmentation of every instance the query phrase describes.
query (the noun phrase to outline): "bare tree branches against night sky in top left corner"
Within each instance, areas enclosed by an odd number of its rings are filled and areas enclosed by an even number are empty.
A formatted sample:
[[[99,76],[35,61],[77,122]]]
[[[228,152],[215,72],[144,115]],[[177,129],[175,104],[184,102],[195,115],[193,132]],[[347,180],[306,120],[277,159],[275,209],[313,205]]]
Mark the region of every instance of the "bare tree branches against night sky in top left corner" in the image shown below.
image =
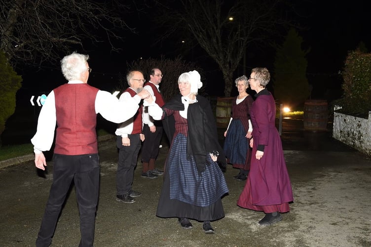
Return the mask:
[[[0,0],[0,50],[15,63],[59,60],[60,53],[82,47],[85,41],[122,41],[130,28],[120,11],[120,1]]]

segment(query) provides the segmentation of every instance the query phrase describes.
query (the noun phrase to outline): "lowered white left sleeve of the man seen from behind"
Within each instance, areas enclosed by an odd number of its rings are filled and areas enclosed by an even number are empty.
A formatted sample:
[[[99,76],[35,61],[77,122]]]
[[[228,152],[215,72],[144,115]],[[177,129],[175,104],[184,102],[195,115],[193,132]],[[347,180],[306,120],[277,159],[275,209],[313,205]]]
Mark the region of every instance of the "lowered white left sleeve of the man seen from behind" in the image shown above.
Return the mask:
[[[31,139],[35,154],[50,150],[54,140],[56,121],[55,96],[54,91],[51,91],[38,115],[36,134]]]

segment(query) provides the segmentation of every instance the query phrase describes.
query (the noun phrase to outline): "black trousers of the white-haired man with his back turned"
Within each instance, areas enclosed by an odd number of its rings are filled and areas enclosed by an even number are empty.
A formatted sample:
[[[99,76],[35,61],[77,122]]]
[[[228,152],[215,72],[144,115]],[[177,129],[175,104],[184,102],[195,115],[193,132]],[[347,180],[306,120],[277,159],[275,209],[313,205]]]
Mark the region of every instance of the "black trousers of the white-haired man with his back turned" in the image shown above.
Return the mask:
[[[53,161],[53,183],[37,235],[36,246],[44,247],[51,244],[58,216],[72,180],[74,180],[80,214],[81,240],[79,246],[93,246],[99,193],[99,156],[98,154],[54,154]]]

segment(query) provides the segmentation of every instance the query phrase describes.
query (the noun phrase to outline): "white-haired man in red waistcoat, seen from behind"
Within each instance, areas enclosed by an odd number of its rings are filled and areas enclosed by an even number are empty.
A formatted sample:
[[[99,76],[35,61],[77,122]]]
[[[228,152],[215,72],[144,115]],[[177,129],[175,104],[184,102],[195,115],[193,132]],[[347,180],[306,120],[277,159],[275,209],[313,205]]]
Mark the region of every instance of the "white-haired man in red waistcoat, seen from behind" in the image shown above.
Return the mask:
[[[42,106],[34,144],[35,165],[45,170],[43,151],[50,150],[56,128],[53,156],[53,183],[37,235],[36,246],[50,246],[58,216],[74,180],[80,214],[80,247],[93,246],[95,213],[99,193],[99,156],[96,134],[97,114],[114,123],[131,118],[146,90],[125,101],[87,84],[91,68],[89,56],[72,53],[61,61],[68,80],[53,89]]]

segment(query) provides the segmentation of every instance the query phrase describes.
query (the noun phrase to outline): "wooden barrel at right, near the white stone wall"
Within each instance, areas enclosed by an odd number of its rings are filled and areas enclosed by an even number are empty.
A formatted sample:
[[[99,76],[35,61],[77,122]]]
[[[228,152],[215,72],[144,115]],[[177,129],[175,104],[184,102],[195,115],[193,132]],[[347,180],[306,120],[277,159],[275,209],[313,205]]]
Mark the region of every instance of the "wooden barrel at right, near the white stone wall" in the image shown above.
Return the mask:
[[[328,118],[327,100],[310,99],[304,102],[305,130],[327,130]]]

